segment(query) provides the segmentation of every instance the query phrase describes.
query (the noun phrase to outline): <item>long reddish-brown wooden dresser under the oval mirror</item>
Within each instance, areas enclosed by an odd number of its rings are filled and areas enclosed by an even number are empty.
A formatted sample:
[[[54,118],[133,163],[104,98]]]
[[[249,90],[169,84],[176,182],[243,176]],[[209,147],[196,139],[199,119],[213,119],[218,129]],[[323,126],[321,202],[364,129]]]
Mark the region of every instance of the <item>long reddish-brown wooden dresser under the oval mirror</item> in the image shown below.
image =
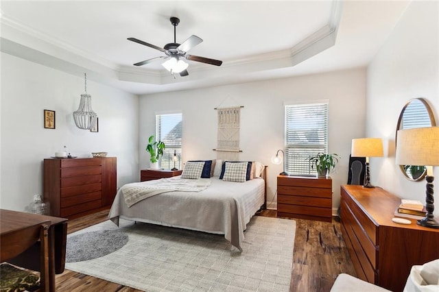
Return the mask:
[[[382,188],[341,187],[342,233],[357,277],[402,291],[412,265],[439,258],[439,229],[394,223],[401,199]]]

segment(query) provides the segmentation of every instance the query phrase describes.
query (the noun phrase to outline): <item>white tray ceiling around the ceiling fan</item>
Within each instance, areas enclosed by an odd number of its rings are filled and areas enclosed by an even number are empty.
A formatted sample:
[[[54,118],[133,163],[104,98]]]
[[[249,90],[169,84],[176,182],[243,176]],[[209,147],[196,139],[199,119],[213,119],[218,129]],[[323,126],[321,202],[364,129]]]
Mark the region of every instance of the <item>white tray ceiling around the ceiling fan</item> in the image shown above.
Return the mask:
[[[1,1],[1,51],[136,94],[250,82],[366,66],[409,1]],[[189,54],[222,66],[189,62],[171,76],[161,51],[204,41]]]

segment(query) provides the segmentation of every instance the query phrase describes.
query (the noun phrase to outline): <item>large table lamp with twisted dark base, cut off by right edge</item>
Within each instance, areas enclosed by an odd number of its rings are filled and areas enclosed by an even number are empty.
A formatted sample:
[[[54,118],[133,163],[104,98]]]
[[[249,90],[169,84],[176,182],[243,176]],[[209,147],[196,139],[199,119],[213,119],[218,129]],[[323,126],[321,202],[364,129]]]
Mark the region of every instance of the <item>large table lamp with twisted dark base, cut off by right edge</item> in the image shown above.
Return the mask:
[[[418,220],[418,225],[429,228],[439,228],[439,222],[434,219],[434,189],[433,167],[439,166],[439,127],[418,127],[399,130],[396,133],[397,165],[426,166],[427,189],[425,191],[425,208],[427,216]]]

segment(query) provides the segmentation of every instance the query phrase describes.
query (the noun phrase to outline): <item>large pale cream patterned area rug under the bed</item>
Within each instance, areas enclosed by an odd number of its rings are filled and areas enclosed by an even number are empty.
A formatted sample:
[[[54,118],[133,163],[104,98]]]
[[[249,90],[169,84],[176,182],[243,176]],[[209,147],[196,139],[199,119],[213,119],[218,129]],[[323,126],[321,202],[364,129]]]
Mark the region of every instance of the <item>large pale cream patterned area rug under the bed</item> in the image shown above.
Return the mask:
[[[66,269],[143,291],[289,291],[296,222],[255,216],[243,252],[224,235],[146,223],[105,221],[69,236],[119,230],[128,243]]]

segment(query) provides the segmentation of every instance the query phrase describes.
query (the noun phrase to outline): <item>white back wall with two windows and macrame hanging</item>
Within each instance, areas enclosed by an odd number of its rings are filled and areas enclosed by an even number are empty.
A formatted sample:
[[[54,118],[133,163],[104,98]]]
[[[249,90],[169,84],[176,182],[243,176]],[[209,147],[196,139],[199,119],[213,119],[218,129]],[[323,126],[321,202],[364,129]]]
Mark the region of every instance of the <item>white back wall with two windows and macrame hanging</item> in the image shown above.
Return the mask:
[[[145,145],[154,134],[155,114],[168,110],[183,113],[182,159],[216,158],[217,112],[214,108],[241,109],[240,160],[259,160],[268,165],[268,203],[276,208],[276,175],[282,166],[271,156],[284,143],[284,102],[329,100],[329,152],[342,159],[331,173],[333,207],[340,205],[340,184],[346,184],[351,139],[365,134],[366,71],[353,69],[318,75],[290,77],[247,84],[234,84],[145,95],[140,99],[139,167],[149,167]]]

